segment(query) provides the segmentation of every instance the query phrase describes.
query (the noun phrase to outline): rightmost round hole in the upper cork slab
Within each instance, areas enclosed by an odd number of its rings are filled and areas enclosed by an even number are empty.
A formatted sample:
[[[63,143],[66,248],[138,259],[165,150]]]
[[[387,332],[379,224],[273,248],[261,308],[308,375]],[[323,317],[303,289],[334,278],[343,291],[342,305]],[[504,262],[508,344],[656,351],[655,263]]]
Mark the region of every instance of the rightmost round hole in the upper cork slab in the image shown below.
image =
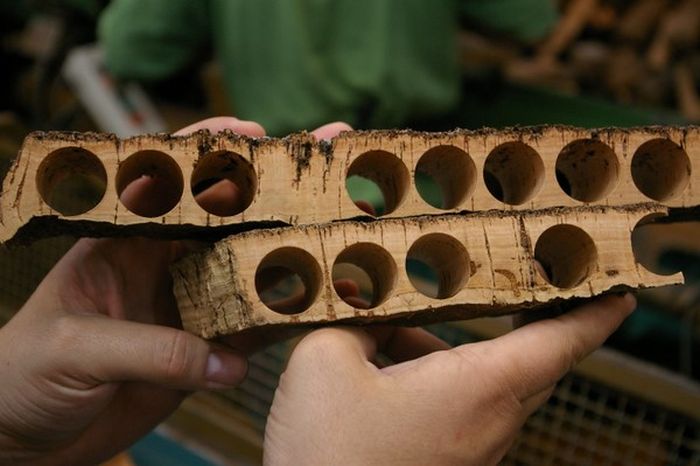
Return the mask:
[[[690,159],[668,139],[652,139],[632,156],[632,179],[645,196],[667,201],[681,195],[690,181]]]

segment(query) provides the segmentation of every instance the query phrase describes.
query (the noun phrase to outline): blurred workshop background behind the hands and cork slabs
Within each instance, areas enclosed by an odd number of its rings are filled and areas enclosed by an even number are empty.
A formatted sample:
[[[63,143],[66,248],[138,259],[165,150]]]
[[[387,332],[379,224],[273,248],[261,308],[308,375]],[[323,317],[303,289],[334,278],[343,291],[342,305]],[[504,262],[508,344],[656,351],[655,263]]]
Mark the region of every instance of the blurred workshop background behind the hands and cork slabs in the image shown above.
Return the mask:
[[[0,70],[3,176],[33,130],[127,137],[215,115],[273,136],[335,120],[688,125],[700,122],[700,0],[0,0]],[[686,285],[640,292],[503,464],[700,464],[700,226],[640,226],[632,240],[641,264]],[[0,249],[0,322],[73,241]],[[430,329],[459,344],[508,326]],[[192,397],[115,464],[258,464],[292,345],[256,355],[239,389]]]

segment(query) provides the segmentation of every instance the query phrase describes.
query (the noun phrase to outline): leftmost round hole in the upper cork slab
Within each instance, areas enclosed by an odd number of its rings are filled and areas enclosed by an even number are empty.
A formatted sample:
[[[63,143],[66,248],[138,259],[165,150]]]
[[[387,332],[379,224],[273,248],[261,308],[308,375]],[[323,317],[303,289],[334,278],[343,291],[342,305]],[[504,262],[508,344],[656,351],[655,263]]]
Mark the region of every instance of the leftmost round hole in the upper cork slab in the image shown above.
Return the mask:
[[[100,203],[107,190],[107,172],[100,159],[80,147],[47,155],[36,173],[39,195],[53,210],[80,215]]]

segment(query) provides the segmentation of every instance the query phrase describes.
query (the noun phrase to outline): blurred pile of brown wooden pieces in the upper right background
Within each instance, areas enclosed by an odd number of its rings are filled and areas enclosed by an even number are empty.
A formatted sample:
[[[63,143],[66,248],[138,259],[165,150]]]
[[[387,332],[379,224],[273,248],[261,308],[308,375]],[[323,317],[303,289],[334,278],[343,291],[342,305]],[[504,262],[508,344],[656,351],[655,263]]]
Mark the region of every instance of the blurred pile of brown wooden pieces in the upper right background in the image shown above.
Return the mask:
[[[690,121],[700,89],[700,0],[569,0],[532,50],[496,36],[462,38],[465,69],[497,67],[506,80],[640,107],[671,107]],[[689,63],[678,84],[676,65]],[[690,74],[690,76],[687,76]],[[689,86],[695,83],[695,91]]]

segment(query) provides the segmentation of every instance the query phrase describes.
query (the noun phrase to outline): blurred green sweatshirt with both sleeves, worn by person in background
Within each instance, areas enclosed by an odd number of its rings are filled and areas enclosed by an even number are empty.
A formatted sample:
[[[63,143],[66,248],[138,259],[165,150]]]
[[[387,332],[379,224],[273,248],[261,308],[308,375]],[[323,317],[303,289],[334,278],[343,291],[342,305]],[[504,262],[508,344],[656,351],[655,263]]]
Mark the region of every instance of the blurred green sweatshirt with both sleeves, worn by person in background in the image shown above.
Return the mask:
[[[451,110],[465,17],[531,40],[556,12],[551,0],[113,0],[99,35],[110,71],[144,81],[212,46],[236,116],[281,135]]]

